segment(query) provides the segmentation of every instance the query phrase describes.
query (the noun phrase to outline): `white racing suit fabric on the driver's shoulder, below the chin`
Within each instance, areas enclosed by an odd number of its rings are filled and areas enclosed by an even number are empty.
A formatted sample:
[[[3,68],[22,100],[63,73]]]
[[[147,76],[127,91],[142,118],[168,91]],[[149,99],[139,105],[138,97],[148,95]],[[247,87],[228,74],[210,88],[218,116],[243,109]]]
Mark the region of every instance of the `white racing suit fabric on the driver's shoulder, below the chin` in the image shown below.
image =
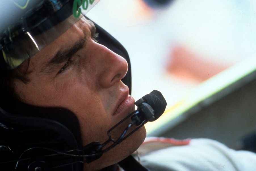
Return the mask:
[[[188,145],[172,145],[148,152],[140,156],[140,162],[151,171],[256,170],[255,153],[235,151],[217,141],[203,138],[192,139]]]

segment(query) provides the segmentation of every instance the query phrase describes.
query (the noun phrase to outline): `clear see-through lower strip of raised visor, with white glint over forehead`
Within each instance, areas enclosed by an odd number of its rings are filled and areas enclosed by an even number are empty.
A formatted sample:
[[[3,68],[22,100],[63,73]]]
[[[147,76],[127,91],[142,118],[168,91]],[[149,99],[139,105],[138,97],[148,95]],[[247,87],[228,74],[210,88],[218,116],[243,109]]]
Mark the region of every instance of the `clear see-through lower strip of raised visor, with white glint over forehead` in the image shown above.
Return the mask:
[[[83,15],[85,15],[91,8],[93,8],[99,0],[87,0],[84,4],[75,4],[80,6],[79,9],[69,16],[62,15],[66,10],[62,8],[62,12],[58,11],[58,14],[52,15],[47,18],[36,27],[28,29],[24,34],[16,36],[14,39],[10,39],[11,43],[8,43],[2,48],[3,59],[6,63],[7,69],[14,69],[18,67],[22,62],[29,59],[37,52],[45,48],[60,35],[65,33],[70,27],[72,27],[77,21],[79,21]],[[70,7],[68,7],[70,9]],[[82,14],[81,14],[82,12]],[[65,17],[65,19],[63,19]],[[57,23],[57,24],[56,24]]]

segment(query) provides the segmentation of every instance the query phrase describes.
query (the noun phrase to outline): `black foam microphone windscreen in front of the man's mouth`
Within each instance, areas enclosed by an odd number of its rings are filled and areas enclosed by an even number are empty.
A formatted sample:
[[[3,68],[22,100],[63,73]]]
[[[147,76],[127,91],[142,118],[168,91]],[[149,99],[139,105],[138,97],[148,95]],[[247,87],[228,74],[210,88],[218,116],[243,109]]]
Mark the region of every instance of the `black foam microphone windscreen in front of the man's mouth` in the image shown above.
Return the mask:
[[[144,95],[142,99],[144,100],[144,102],[149,104],[155,111],[155,119],[152,121],[158,119],[165,111],[167,103],[160,91],[153,90],[151,93]]]

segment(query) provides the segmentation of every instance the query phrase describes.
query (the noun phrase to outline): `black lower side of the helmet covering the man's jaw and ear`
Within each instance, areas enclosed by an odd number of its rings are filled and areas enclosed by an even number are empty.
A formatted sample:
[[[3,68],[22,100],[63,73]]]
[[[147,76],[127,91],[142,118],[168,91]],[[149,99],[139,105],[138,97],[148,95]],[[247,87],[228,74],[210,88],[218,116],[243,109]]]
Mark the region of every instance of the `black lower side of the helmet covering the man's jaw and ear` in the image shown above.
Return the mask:
[[[0,132],[5,137],[1,138],[0,144],[8,149],[5,153],[0,152],[3,168],[82,168],[80,157],[58,155],[59,151],[81,149],[81,136],[75,136],[75,132],[80,131],[76,128],[79,124],[72,112],[61,108],[39,108],[18,101],[12,101],[11,105],[8,105],[9,102],[1,101],[1,106],[5,106],[5,110],[0,108]],[[65,165],[67,163],[74,164]]]

